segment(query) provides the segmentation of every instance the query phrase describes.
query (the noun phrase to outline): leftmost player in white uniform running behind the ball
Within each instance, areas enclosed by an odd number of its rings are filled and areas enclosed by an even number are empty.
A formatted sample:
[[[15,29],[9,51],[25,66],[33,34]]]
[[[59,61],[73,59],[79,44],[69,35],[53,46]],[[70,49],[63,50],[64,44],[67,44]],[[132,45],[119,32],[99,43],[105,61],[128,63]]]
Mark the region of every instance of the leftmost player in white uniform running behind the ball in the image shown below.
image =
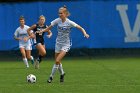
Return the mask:
[[[29,26],[25,25],[25,19],[23,16],[19,18],[20,26],[16,29],[14,33],[14,39],[19,41],[19,48],[22,54],[23,62],[26,67],[29,68],[28,60],[34,63],[34,58],[31,56],[32,43],[30,36],[27,33]]]

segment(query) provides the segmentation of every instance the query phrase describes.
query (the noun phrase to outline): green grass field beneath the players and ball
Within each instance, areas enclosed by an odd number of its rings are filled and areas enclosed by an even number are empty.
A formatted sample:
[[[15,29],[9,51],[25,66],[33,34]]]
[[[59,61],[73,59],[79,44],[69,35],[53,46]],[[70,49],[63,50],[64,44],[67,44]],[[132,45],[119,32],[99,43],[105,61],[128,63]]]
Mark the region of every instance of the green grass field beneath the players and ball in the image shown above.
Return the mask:
[[[63,60],[65,82],[47,83],[53,60],[44,60],[40,69],[26,69],[21,61],[0,62],[0,93],[140,93],[140,58],[95,58]],[[37,82],[26,82],[35,74]]]

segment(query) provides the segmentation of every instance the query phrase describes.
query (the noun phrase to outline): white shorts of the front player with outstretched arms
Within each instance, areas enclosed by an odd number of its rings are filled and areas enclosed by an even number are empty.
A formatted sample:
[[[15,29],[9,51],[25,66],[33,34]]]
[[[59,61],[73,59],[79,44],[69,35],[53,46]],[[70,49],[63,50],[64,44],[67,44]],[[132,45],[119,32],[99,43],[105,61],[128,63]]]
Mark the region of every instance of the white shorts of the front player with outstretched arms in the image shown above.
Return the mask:
[[[55,53],[60,53],[60,51],[68,52],[70,50],[70,45],[55,44]]]

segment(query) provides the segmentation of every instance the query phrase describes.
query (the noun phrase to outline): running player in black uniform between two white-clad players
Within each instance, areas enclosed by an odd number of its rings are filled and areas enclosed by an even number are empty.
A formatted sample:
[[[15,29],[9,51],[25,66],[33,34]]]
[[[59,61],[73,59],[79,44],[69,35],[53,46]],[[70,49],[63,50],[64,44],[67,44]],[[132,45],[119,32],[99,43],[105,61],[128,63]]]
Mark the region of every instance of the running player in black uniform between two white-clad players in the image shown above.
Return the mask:
[[[44,32],[40,33],[40,31],[47,28],[47,25],[45,25],[45,17],[41,15],[39,17],[39,21],[37,24],[32,25],[28,29],[28,34],[32,38],[34,38],[34,44],[36,46],[36,49],[38,50],[38,58],[35,61],[35,68],[39,68],[39,63],[42,61],[42,57],[46,55],[46,49],[45,49],[45,43],[44,43]],[[33,30],[33,33],[32,33]],[[48,30],[47,37],[50,38],[52,36],[52,32]]]

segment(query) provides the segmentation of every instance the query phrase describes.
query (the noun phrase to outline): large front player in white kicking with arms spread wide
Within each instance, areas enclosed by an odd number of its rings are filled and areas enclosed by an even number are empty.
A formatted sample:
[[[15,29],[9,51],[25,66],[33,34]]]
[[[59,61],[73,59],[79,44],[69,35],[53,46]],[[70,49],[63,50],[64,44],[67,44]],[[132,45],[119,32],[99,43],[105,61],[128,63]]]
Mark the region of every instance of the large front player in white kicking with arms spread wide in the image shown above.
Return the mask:
[[[67,17],[70,15],[69,11],[67,10],[66,6],[59,8],[59,18],[56,18],[51,22],[51,25],[43,30],[41,33],[44,33],[50,30],[53,26],[57,25],[58,35],[56,38],[55,44],[55,64],[52,68],[52,73],[48,79],[48,83],[51,83],[53,80],[53,76],[58,69],[60,72],[60,82],[64,82],[64,75],[65,72],[62,68],[62,59],[66,55],[66,53],[70,50],[71,41],[70,41],[70,32],[72,27],[78,28],[83,34],[84,37],[89,38],[89,35],[86,31],[76,24],[75,22],[69,20]]]

